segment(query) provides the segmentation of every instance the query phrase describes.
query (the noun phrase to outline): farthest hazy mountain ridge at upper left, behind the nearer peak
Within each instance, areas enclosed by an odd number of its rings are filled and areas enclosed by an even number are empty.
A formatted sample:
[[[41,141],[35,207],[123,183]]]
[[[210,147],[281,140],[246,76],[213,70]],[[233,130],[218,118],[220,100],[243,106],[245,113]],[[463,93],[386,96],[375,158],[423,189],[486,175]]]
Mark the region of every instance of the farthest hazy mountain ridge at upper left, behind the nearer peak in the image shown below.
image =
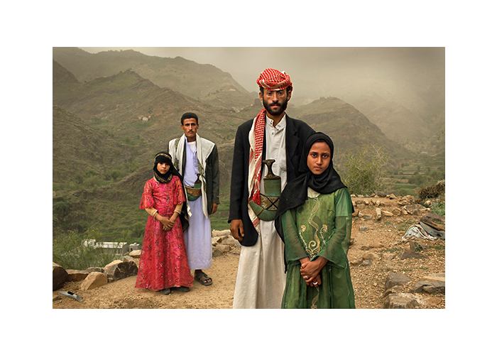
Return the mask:
[[[53,58],[80,82],[133,70],[158,87],[173,89],[214,106],[241,109],[253,99],[229,73],[181,57],[153,57],[134,50],[92,54],[79,48],[53,48]]]

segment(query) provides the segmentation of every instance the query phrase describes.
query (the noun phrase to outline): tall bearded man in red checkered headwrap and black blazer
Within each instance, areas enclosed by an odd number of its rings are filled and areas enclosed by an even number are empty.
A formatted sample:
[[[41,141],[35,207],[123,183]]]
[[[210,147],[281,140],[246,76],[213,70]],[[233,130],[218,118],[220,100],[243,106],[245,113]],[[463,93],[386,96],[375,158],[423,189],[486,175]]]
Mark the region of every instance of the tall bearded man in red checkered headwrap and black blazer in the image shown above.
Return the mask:
[[[286,114],[293,84],[284,71],[268,68],[257,79],[263,109],[236,131],[231,168],[229,222],[241,253],[234,308],[280,308],[285,289],[283,242],[274,221],[258,219],[249,201],[261,204],[263,159],[274,159],[281,189],[298,174],[302,146],[314,133],[305,122]]]

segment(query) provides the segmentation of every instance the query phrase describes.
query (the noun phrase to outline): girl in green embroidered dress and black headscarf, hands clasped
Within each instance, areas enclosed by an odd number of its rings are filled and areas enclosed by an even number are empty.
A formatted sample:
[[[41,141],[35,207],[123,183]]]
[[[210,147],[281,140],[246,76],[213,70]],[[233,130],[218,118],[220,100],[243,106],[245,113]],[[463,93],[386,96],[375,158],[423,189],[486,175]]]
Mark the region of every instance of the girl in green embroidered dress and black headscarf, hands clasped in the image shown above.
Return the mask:
[[[347,260],[354,207],[333,168],[329,136],[307,138],[299,171],[281,194],[275,221],[287,263],[281,307],[355,308]]]

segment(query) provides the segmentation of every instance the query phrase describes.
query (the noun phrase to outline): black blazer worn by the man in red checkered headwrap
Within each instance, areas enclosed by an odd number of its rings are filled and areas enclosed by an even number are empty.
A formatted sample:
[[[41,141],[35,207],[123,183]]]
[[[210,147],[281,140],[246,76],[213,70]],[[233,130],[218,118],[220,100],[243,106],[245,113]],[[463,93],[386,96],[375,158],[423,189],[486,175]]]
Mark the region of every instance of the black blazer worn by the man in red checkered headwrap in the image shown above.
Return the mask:
[[[249,218],[249,132],[253,119],[241,124],[236,131],[231,168],[231,192],[229,195],[229,220],[241,219],[244,223],[243,246],[253,246],[257,241],[257,231]],[[263,157],[266,153],[266,130],[264,131]],[[307,137],[315,133],[305,122],[286,116],[286,168],[287,182],[298,175],[298,164]]]

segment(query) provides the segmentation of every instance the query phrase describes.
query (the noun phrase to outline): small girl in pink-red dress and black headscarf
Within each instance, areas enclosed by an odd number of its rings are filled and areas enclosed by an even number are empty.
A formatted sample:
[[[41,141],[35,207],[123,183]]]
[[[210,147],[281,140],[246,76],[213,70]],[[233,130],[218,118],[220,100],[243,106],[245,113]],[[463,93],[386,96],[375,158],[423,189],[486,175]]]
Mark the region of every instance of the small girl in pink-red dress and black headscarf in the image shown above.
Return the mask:
[[[155,155],[153,178],[145,183],[140,208],[149,214],[143,234],[136,288],[187,292],[193,284],[183,241],[180,214],[185,202],[181,176],[171,156]]]

